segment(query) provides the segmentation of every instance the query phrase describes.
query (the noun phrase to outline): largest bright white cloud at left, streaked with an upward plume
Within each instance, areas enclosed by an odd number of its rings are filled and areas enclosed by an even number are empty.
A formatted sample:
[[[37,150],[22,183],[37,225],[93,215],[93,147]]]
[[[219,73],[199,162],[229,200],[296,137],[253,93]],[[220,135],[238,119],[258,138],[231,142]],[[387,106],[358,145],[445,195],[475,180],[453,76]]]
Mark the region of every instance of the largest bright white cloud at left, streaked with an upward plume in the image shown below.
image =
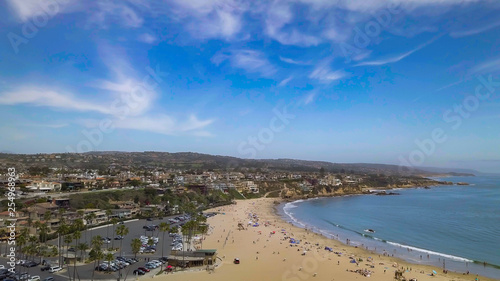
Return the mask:
[[[201,120],[196,115],[184,118],[154,112],[153,105],[158,98],[157,85],[151,73],[144,69],[144,79],[122,57],[120,50],[103,46],[101,50],[104,63],[109,67],[110,79],[97,80],[89,86],[101,90],[101,95],[90,99],[88,95],[74,94],[52,89],[23,87],[0,92],[0,105],[26,105],[52,108],[55,111],[98,113],[111,120],[115,128],[155,132],[165,135],[193,134],[209,136],[205,130],[214,119]],[[161,71],[161,69],[159,69]],[[157,72],[155,75],[159,75]],[[166,75],[166,74],[164,74]],[[149,78],[149,79],[145,79]],[[164,79],[164,77],[161,77]],[[148,85],[143,81],[149,81]],[[78,123],[87,127],[99,124],[97,119],[80,119]],[[59,128],[62,124],[45,124],[46,127]]]

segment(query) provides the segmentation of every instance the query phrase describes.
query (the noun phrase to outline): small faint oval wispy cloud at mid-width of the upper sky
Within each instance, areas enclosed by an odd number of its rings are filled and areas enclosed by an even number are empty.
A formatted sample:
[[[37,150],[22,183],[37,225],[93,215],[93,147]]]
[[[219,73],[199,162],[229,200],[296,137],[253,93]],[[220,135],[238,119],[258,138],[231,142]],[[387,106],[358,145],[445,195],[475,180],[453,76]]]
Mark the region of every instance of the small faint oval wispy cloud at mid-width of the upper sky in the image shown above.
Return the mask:
[[[234,68],[244,69],[248,73],[260,73],[265,77],[269,77],[277,71],[264,53],[255,50],[233,50],[229,54],[217,53],[211,59],[212,63],[216,65],[225,60],[229,60]]]

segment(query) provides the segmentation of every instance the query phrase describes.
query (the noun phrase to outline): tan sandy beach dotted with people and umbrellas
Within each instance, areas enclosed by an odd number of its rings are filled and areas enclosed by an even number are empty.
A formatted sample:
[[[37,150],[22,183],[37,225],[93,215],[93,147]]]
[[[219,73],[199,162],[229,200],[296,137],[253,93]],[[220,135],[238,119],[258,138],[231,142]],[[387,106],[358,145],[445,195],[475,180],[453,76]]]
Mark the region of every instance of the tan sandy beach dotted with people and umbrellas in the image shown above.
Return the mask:
[[[407,280],[494,280],[451,271],[444,274],[437,267],[410,264],[344,245],[283,221],[275,214],[274,201],[266,198],[243,200],[235,205],[213,209],[221,214],[208,219],[210,231],[203,248],[217,249],[220,259],[215,270],[207,272],[205,268],[193,268],[186,272],[155,276],[155,279],[388,281],[394,280],[397,268],[404,268]],[[258,216],[259,226],[248,225],[250,213]],[[242,223],[245,230],[238,230],[238,223]],[[290,238],[300,242],[291,246]],[[325,250],[325,247],[330,247],[332,251]],[[235,258],[240,259],[240,264],[233,263]],[[352,259],[357,263],[352,263]],[[437,275],[431,276],[433,270]],[[369,274],[369,277],[363,274]]]

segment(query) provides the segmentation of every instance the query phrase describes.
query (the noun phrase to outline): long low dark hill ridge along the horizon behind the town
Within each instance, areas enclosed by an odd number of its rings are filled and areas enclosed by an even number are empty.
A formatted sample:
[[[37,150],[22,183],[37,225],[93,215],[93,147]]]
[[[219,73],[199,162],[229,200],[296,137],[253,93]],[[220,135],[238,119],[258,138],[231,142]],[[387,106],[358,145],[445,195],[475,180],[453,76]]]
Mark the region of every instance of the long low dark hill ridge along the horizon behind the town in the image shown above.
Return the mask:
[[[245,170],[264,169],[275,171],[318,172],[324,168],[332,173],[386,174],[386,175],[462,175],[462,169],[408,168],[397,165],[371,163],[332,163],[297,159],[242,159],[230,156],[209,155],[193,152],[119,152],[102,151],[54,154],[7,154],[0,153],[0,165],[14,164],[21,167],[46,166],[81,169],[165,168],[180,170]],[[467,174],[473,175],[471,171]]]

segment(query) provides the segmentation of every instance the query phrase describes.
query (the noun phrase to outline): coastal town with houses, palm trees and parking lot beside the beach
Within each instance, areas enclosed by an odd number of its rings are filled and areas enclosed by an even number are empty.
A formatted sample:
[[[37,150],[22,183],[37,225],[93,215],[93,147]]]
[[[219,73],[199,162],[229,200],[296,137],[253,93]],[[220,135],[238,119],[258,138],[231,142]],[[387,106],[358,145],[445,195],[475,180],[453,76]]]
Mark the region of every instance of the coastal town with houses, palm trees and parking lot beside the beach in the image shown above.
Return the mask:
[[[67,154],[2,156],[0,240],[5,247],[0,245],[0,260],[6,264],[1,274],[17,280],[120,280],[150,271],[213,271],[221,261],[220,245],[206,248],[211,242],[203,247],[203,241],[215,231],[207,219],[220,213],[217,208],[258,198],[395,195],[389,190],[447,184],[417,175],[364,173],[359,167],[181,169],[109,155],[69,155],[69,165],[61,162]],[[109,165],[83,168],[89,160]],[[141,266],[134,265],[138,262]]]

